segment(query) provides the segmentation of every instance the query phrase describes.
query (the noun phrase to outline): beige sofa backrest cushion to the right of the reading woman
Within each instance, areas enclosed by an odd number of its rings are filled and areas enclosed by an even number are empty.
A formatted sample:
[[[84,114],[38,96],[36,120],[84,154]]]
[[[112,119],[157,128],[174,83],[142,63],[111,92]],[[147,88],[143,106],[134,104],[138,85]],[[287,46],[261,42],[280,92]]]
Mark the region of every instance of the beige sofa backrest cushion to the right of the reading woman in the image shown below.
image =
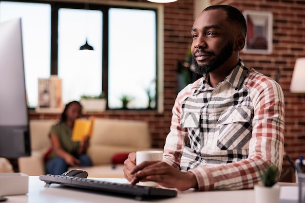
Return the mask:
[[[94,165],[111,164],[116,153],[151,148],[151,135],[145,121],[95,118],[88,155]]]

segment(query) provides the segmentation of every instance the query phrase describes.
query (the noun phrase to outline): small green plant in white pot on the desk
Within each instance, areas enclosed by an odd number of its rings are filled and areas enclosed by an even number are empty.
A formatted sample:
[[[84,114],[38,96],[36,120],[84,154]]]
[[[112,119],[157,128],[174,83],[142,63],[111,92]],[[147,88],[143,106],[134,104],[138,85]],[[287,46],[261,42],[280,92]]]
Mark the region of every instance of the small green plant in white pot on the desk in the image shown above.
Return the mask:
[[[260,173],[262,184],[254,185],[255,203],[279,203],[280,186],[277,177],[280,175],[277,166],[271,164]]]

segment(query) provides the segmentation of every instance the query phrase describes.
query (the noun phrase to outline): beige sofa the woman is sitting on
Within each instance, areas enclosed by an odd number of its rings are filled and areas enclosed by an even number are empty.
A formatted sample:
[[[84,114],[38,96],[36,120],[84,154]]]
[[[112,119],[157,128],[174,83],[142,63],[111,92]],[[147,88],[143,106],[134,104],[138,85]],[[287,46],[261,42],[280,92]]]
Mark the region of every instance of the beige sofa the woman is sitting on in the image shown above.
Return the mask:
[[[44,154],[50,148],[49,130],[56,120],[30,120],[30,157],[18,159],[19,172],[45,174]],[[112,158],[137,150],[152,149],[148,123],[118,119],[95,118],[88,154],[94,166],[82,167],[88,177],[122,178],[122,164],[113,168]],[[158,149],[162,150],[162,149]],[[117,157],[116,156],[116,157]]]

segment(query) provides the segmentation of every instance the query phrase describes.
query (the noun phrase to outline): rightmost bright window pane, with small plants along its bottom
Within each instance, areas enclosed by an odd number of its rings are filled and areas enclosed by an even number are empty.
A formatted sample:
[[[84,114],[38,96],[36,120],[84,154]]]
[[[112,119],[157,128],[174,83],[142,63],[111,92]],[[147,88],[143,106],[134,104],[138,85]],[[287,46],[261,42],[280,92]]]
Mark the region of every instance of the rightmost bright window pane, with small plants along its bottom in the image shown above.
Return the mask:
[[[110,108],[120,108],[123,95],[132,98],[130,108],[147,108],[148,93],[155,95],[155,19],[154,11],[109,10]],[[150,107],[154,107],[153,102]]]

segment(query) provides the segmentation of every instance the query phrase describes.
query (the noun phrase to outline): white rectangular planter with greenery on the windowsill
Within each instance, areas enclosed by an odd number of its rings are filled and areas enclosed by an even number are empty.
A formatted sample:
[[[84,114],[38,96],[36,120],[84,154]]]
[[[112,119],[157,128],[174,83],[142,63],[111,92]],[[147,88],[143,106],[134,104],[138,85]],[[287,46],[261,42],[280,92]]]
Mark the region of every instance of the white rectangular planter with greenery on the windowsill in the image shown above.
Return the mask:
[[[84,111],[105,111],[107,104],[105,93],[101,92],[97,96],[81,95],[80,104]]]

